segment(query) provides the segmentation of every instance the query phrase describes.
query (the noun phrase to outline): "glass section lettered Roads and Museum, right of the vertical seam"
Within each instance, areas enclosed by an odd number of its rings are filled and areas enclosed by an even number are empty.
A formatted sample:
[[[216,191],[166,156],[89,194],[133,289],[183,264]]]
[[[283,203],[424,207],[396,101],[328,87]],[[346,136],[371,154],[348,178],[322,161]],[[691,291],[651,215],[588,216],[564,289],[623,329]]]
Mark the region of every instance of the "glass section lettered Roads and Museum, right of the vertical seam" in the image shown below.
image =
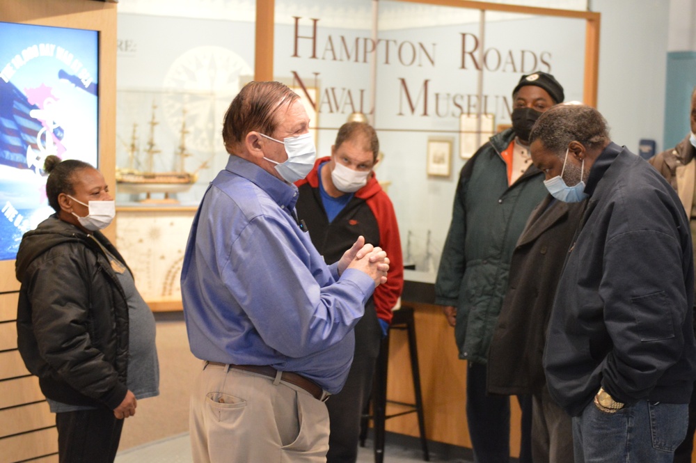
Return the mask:
[[[583,100],[585,21],[380,1],[379,40],[393,52],[377,55],[379,174],[392,181],[406,263],[436,272],[459,171],[511,124],[521,76],[549,72],[566,101]]]

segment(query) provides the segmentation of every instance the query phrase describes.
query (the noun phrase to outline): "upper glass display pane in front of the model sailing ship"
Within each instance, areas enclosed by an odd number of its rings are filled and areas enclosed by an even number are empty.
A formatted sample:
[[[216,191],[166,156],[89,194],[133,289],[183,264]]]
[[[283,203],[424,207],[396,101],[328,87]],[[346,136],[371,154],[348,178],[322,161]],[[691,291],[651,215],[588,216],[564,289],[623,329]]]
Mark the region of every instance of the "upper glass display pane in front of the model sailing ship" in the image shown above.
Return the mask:
[[[118,15],[118,205],[196,207],[227,163],[221,123],[254,69],[255,10],[243,0],[134,1]]]

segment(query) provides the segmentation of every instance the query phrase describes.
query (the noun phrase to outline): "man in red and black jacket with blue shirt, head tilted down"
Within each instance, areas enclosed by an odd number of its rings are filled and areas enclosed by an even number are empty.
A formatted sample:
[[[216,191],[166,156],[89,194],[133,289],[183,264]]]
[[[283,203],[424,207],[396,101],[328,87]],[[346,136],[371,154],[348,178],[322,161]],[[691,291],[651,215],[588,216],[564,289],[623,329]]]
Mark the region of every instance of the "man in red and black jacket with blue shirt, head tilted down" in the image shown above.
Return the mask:
[[[374,290],[355,327],[355,355],[347,382],[326,402],[331,419],[327,463],[354,463],[363,406],[370,396],[379,341],[386,336],[404,286],[399,227],[394,207],[372,169],[379,141],[370,125],[349,122],[338,130],[331,157],[317,159],[307,178],[296,182],[296,211],[326,262],[338,260],[360,235],[389,256],[387,282]],[[333,259],[333,260],[332,260]]]

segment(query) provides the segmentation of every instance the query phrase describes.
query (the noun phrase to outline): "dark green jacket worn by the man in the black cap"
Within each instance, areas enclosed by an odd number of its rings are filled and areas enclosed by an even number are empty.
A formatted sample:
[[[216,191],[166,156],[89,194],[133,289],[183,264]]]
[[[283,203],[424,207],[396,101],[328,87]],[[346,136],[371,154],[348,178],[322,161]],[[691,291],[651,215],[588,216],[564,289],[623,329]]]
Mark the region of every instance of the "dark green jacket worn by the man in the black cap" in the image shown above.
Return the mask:
[[[548,193],[533,165],[507,185],[500,153],[514,136],[512,129],[492,136],[461,169],[435,282],[435,304],[457,307],[459,358],[476,363],[487,363],[517,239]]]

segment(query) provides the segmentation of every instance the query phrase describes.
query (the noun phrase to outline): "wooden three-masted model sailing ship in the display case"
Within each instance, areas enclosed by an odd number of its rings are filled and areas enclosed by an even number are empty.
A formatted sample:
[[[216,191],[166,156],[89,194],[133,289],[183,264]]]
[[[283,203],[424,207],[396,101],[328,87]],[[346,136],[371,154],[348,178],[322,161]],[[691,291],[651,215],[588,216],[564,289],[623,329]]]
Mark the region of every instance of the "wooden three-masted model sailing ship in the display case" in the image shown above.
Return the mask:
[[[152,104],[152,118],[148,123],[150,125],[150,136],[148,138],[148,147],[145,150],[147,155],[147,164],[144,171],[135,168],[136,153],[139,152],[138,144],[136,143],[137,124],[133,125],[131,134],[131,143],[128,147],[128,166],[127,168],[116,168],[116,184],[118,185],[119,193],[141,194],[145,193],[146,199],[143,202],[153,203],[177,203],[174,198],[170,198],[171,193],[182,193],[188,191],[191,186],[198,180],[198,171],[205,168],[207,162],[203,164],[195,172],[187,172],[184,163],[187,157],[191,154],[186,148],[186,135],[189,131],[186,128],[186,110],[183,111],[179,148],[175,152],[177,158],[177,170],[169,172],[155,172],[155,156],[161,152],[155,145],[155,126],[159,124],[155,120],[155,109],[157,105]],[[152,193],[164,193],[164,200],[156,200],[150,198]]]

